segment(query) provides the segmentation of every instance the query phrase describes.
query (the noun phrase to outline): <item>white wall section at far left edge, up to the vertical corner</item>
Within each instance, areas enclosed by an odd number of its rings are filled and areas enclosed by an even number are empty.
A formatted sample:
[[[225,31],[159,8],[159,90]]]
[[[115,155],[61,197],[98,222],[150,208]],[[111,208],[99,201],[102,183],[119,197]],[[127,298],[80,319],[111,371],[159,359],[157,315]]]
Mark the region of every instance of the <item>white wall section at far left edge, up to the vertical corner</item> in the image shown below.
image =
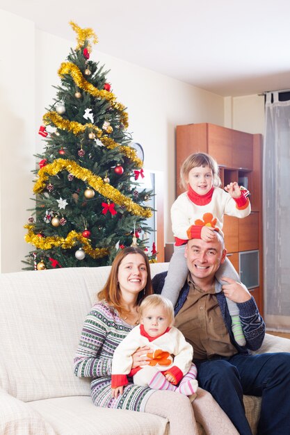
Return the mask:
[[[34,26],[0,11],[0,270],[22,268],[35,164]]]

